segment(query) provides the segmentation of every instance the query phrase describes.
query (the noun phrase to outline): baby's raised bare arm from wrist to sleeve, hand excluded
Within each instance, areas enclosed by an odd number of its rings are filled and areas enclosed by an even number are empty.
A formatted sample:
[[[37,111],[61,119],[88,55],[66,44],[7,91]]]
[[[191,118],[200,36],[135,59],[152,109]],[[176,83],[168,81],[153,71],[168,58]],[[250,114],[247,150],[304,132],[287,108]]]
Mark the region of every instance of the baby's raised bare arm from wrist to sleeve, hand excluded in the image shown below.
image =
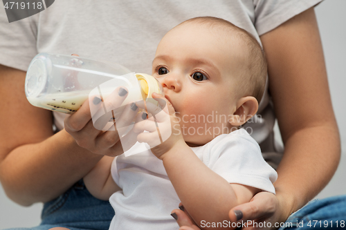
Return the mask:
[[[260,191],[251,186],[229,184],[201,162],[187,145],[175,145],[162,160],[176,193],[199,227],[203,220],[228,222],[230,209],[250,201]]]

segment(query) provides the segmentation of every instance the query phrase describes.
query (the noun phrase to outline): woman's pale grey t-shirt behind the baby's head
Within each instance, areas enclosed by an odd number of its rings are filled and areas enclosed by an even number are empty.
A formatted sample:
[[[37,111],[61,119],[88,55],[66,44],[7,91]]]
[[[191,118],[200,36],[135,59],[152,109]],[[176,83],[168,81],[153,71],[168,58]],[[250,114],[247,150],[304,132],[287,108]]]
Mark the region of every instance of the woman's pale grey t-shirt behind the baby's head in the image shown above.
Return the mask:
[[[259,35],[322,0],[59,0],[37,15],[8,23],[0,7],[0,64],[26,71],[39,52],[113,61],[136,73],[151,73],[158,42],[177,24],[198,16],[226,19]],[[282,148],[274,141],[275,114],[267,89],[246,124],[266,161],[276,167]],[[24,89],[23,89],[24,90]],[[54,112],[58,130],[65,114]]]

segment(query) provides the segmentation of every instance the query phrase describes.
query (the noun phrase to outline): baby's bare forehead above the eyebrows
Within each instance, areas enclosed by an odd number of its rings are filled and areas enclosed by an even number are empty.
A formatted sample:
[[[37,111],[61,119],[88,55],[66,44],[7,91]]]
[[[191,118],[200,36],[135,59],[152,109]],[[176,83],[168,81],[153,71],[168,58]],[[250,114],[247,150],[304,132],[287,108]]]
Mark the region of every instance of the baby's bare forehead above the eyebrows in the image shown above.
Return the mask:
[[[156,56],[164,54],[185,55],[186,52],[209,55],[211,59],[220,60],[226,69],[240,69],[247,66],[251,46],[248,35],[232,23],[218,21],[192,20],[179,24],[165,35],[158,45]],[[181,52],[174,52],[175,50]]]

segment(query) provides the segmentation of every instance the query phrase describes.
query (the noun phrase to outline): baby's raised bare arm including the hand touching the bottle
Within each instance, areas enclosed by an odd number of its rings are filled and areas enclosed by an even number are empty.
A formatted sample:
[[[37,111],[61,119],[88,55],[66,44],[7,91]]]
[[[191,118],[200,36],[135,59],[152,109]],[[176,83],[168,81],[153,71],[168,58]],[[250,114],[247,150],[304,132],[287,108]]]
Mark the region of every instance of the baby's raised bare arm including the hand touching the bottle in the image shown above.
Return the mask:
[[[163,160],[177,195],[200,227],[203,220],[206,222],[230,221],[228,211],[238,204],[250,201],[260,190],[241,184],[229,184],[227,180],[209,169],[183,140],[179,130],[179,119],[176,117],[172,104],[162,95],[153,93],[152,97],[162,108],[166,108],[165,104],[167,104],[167,110],[160,111],[150,103],[146,106],[143,106],[143,103],[136,103],[138,107],[146,108],[149,113],[155,114],[158,123],[154,124],[153,117],[146,119],[145,122],[136,123],[134,126],[136,132],[149,131],[149,133],[140,133],[138,142],[148,143],[152,146],[152,153]],[[165,101],[164,104],[163,101]],[[161,137],[169,136],[157,146],[156,125],[160,128]],[[167,135],[167,131],[172,131],[172,134]]]

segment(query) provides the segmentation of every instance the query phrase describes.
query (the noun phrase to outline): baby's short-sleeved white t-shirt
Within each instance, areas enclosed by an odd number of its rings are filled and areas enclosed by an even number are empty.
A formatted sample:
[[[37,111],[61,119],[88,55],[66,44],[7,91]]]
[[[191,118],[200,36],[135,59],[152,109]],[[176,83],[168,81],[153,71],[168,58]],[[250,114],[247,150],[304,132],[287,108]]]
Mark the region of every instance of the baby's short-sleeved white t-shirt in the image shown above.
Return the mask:
[[[219,135],[192,151],[229,183],[275,193],[277,173],[264,161],[260,146],[243,128]],[[178,229],[170,213],[179,206],[179,197],[163,162],[151,151],[129,157],[119,155],[113,160],[111,175],[122,191],[109,199],[116,213],[109,229]]]

